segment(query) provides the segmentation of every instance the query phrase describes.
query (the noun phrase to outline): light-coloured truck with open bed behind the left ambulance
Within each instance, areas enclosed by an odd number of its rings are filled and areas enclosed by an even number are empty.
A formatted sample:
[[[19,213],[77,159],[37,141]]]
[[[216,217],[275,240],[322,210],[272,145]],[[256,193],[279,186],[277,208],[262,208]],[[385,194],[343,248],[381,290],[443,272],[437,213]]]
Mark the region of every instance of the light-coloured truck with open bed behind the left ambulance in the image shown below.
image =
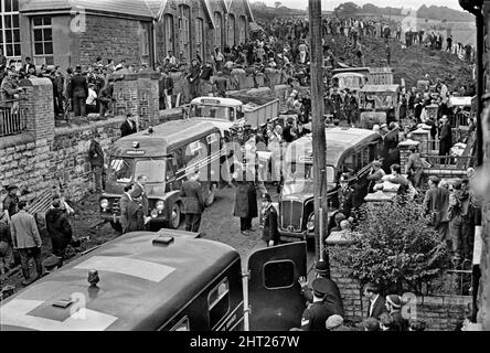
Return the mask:
[[[279,99],[244,96],[245,99],[221,97],[198,97],[188,107],[190,119],[201,119],[220,128],[222,136],[238,120],[245,119],[253,129],[266,124],[267,118],[279,116]]]

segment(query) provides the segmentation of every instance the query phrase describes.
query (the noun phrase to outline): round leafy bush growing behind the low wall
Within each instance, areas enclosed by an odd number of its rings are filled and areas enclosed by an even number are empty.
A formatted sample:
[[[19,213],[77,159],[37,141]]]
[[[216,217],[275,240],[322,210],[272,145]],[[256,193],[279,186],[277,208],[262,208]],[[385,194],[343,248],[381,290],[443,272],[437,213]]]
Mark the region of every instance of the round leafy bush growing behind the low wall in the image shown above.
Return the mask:
[[[385,292],[422,295],[423,285],[448,264],[445,242],[413,201],[364,204],[353,243],[331,248],[331,257],[351,268],[362,285],[375,282]]]

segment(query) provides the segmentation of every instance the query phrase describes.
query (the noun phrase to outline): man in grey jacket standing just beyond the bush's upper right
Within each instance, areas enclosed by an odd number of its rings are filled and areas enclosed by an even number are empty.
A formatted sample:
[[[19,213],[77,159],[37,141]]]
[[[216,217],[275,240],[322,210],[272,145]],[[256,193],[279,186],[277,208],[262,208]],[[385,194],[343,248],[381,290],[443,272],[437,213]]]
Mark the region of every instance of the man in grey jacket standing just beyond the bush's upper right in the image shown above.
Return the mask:
[[[435,175],[429,176],[429,190],[425,193],[424,208],[430,217],[432,226],[439,234],[439,240],[448,240],[449,191],[446,188],[440,188],[439,183],[439,178]]]

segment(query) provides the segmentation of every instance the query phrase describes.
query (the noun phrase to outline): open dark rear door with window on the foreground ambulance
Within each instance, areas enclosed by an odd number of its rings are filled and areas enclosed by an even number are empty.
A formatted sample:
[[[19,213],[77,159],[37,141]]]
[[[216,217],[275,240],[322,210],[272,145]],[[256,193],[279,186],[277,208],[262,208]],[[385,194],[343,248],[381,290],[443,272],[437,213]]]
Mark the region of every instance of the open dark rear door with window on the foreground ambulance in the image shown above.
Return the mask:
[[[298,278],[307,274],[306,242],[256,250],[248,258],[251,331],[299,328],[306,301]]]

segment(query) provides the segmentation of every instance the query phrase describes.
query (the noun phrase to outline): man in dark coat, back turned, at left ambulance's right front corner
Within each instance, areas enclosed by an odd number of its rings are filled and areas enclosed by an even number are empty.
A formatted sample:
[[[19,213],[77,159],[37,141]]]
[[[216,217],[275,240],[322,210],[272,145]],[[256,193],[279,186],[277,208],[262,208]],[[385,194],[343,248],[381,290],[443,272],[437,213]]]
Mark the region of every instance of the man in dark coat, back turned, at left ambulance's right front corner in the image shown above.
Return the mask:
[[[205,202],[199,180],[199,170],[188,175],[182,183],[180,196],[183,203],[182,213],[185,214],[185,231],[199,232],[201,215],[204,212]]]

